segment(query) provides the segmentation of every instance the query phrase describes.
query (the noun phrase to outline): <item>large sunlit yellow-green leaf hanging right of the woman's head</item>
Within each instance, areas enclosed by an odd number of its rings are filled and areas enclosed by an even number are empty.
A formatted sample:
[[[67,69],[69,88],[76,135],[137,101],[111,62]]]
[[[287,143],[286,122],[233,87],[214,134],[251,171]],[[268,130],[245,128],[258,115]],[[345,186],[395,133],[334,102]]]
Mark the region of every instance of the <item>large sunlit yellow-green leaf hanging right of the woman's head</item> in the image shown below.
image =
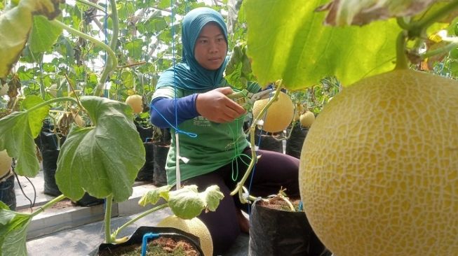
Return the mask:
[[[335,75],[344,85],[393,69],[396,20],[364,27],[328,27],[325,0],[246,0],[248,55],[261,85],[278,79],[297,90]]]

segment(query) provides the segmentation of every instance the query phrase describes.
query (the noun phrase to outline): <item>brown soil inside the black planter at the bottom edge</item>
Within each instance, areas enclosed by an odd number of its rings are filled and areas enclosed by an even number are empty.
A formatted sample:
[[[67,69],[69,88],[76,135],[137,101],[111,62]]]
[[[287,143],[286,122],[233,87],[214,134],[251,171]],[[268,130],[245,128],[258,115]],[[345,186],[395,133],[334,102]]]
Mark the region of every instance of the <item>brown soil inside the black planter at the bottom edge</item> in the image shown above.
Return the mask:
[[[134,244],[109,252],[101,253],[100,256],[138,256],[142,255],[142,245]],[[188,241],[161,236],[150,241],[147,246],[147,256],[203,256]]]

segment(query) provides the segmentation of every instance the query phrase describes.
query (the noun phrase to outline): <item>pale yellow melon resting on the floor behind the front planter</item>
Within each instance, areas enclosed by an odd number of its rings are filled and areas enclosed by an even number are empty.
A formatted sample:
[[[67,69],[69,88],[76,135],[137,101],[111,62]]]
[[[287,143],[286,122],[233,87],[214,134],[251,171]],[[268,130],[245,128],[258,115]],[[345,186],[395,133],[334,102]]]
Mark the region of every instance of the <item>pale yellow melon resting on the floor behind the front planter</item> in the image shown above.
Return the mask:
[[[205,256],[213,255],[213,241],[210,231],[208,231],[207,226],[198,218],[183,220],[175,215],[170,215],[161,220],[157,227],[175,227],[175,229],[180,229],[184,232],[194,234],[194,236],[198,236],[201,240],[201,249],[203,254]]]

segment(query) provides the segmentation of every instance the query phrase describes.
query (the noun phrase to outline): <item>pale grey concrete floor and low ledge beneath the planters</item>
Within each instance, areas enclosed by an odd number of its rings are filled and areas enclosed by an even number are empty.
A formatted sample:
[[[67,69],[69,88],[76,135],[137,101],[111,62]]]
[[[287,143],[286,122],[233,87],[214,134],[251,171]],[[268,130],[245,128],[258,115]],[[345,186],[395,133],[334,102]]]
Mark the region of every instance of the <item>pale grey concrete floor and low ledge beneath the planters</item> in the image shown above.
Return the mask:
[[[15,183],[16,211],[30,211],[30,200],[35,199],[35,206],[45,204],[50,199],[43,194],[43,173],[40,172],[30,181],[19,177],[20,185]],[[32,186],[33,184],[33,186]],[[137,205],[138,199],[144,191],[154,187],[150,184],[135,183],[133,196],[126,202],[115,204],[112,210],[113,229],[123,225],[126,221],[135,218],[135,215],[144,211]],[[25,196],[29,197],[27,199]],[[32,220],[27,232],[27,252],[30,256],[80,256],[87,255],[104,242],[103,204],[92,207],[75,206],[71,202],[63,201],[62,206],[51,208],[39,214]],[[170,215],[169,209],[156,211],[134,225],[126,228],[118,237],[130,236],[140,226],[154,226],[161,219]],[[248,235],[239,236],[234,246],[225,255],[248,255]]]

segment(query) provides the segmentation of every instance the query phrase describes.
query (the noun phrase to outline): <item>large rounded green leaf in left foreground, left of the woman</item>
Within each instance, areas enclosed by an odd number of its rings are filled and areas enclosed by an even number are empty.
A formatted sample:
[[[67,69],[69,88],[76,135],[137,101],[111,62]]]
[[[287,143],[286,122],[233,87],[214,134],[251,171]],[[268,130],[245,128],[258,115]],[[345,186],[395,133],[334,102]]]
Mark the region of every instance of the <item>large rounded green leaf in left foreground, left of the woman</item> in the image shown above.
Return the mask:
[[[144,164],[132,110],[102,97],[81,97],[81,104],[95,127],[72,127],[59,154],[55,181],[75,201],[85,190],[93,197],[112,194],[114,201],[125,201]]]

